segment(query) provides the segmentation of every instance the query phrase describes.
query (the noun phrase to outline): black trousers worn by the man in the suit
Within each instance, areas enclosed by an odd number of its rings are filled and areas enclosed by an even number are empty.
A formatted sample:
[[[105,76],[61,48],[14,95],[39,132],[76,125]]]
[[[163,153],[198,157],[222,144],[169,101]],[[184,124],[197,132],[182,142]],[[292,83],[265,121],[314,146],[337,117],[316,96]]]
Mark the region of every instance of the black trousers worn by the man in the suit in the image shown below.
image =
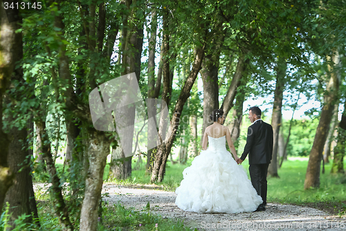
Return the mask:
[[[266,205],[266,174],[268,173],[269,164],[250,164],[248,171],[250,172],[251,183],[256,189],[257,194],[262,197],[263,204]]]

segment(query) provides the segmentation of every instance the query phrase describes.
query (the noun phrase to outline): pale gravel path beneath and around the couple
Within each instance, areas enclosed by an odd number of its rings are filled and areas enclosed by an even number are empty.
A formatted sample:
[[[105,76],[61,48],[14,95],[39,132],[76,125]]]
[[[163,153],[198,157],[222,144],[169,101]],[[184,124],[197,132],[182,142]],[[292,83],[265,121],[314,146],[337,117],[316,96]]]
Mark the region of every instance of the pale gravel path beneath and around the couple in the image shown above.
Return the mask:
[[[319,209],[268,203],[265,212],[239,214],[198,214],[185,212],[174,204],[176,194],[157,185],[133,187],[104,184],[102,194],[109,204],[121,203],[136,211],[149,211],[163,219],[180,219],[198,230],[346,230],[346,216]]]

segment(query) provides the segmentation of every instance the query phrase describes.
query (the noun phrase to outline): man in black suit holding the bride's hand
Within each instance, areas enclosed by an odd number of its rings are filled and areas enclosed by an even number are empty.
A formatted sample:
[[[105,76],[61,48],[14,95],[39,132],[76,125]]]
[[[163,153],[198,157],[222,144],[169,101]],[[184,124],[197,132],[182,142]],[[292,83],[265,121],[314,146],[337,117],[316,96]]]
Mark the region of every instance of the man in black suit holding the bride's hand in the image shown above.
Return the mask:
[[[248,155],[251,183],[263,200],[263,203],[257,207],[256,212],[266,211],[266,174],[273,153],[273,128],[270,124],[262,121],[261,114],[262,112],[258,107],[249,109],[248,119],[253,124],[248,127],[244,153],[237,161],[238,164],[242,164]]]

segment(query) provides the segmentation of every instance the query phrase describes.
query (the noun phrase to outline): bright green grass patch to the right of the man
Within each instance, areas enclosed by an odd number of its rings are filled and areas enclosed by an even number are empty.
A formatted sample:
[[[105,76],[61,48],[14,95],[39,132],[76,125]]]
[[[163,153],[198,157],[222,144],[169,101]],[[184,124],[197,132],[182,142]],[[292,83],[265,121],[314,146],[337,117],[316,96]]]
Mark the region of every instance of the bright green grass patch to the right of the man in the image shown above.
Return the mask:
[[[295,157],[284,162],[278,171],[280,178],[268,179],[268,201],[314,207],[337,216],[345,216],[345,174],[330,174],[331,163],[326,164],[325,173],[320,174],[320,187],[304,190],[308,161],[307,157]]]

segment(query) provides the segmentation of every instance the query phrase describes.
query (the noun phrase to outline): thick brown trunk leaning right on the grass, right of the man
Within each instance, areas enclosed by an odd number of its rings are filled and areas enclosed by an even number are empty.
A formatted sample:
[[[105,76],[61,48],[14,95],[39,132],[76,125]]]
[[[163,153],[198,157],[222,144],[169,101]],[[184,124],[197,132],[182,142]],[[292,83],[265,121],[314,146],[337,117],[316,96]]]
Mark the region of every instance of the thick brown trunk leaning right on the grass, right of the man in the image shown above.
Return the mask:
[[[316,130],[315,139],[310,151],[309,163],[307,165],[307,175],[305,176],[304,189],[310,187],[320,187],[320,162],[322,160],[323,146],[327,139],[327,132],[331,117],[333,116],[334,103],[337,100],[339,89],[339,78],[334,67],[338,64],[338,53],[331,55],[327,60],[331,61],[329,65],[330,80],[325,93],[325,104],[322,107],[320,122]]]

